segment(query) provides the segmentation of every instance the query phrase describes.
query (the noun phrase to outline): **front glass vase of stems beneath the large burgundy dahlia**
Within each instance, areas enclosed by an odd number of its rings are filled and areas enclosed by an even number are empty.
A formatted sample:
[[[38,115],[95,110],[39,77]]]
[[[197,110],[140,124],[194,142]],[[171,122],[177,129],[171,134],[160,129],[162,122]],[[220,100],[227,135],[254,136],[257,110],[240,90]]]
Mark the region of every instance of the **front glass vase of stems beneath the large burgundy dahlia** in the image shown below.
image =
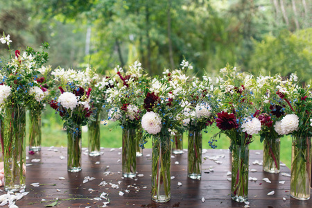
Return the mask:
[[[236,202],[248,200],[249,146],[232,146],[231,198]]]

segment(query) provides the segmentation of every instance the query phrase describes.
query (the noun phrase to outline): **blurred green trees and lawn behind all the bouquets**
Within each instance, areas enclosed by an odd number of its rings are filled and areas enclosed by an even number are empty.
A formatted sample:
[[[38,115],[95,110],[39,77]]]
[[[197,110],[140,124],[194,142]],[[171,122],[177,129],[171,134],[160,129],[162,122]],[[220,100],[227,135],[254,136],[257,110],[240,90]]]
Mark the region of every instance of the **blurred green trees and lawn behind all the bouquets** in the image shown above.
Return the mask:
[[[39,49],[46,41],[53,69],[90,65],[102,74],[139,60],[154,76],[186,58],[198,77],[214,79],[229,63],[254,75],[297,72],[300,83],[311,83],[311,27],[312,2],[306,0],[0,1],[0,33],[10,34],[12,49]],[[8,51],[0,44],[2,57]],[[67,145],[62,121],[49,107],[42,123],[43,146]],[[214,132],[204,134],[204,148]],[[116,124],[102,126],[102,133],[102,146],[121,146]],[[228,139],[218,141],[218,148],[228,146]],[[262,149],[259,137],[251,148]],[[281,139],[281,157],[289,167],[290,137]]]

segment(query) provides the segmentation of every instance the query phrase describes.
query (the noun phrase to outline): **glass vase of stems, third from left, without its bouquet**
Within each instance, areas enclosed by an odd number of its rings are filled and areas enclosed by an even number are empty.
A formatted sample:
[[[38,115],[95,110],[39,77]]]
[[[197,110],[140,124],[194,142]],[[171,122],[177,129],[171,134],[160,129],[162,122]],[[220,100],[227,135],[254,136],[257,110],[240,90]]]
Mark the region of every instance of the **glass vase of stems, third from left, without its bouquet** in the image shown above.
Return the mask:
[[[81,125],[67,125],[67,171],[79,172],[81,167]]]

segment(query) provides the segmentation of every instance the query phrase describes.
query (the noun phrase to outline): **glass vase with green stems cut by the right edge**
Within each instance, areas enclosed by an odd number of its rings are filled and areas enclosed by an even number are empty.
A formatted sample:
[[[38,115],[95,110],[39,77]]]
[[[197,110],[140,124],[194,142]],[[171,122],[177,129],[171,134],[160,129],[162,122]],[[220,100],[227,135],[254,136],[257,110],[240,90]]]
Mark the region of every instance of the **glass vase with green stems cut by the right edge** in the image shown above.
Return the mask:
[[[293,137],[291,152],[291,196],[297,200],[311,197],[311,137]]]

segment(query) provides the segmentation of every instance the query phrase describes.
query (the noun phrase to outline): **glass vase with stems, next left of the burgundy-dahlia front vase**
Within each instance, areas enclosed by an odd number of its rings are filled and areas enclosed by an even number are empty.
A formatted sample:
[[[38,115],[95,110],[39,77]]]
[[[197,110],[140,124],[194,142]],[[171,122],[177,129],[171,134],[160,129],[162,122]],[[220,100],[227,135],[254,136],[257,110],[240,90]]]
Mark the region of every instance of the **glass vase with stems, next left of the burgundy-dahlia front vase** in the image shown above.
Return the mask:
[[[187,176],[200,180],[202,176],[202,132],[189,131]]]

